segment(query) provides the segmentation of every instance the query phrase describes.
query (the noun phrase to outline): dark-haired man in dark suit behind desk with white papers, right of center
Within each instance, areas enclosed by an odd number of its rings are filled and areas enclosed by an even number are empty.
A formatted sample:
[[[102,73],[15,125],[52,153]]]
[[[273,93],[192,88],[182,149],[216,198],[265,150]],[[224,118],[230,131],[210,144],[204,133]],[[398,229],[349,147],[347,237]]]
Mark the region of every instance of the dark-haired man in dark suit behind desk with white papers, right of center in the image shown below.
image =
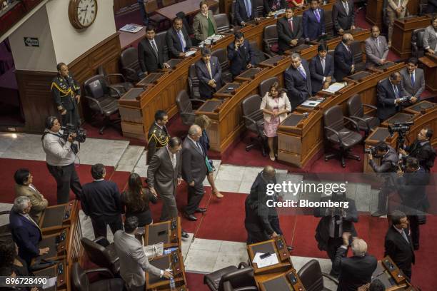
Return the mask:
[[[333,57],[328,55],[328,46],[319,44],[318,55],[311,59],[311,88],[313,95],[321,89],[329,88],[329,85],[336,81],[333,78]]]

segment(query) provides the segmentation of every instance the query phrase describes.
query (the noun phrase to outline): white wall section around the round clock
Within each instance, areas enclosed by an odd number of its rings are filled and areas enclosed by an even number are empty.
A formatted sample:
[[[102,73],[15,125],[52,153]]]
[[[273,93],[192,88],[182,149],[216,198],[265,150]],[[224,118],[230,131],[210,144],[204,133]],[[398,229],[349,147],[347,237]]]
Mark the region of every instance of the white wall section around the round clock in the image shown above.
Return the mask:
[[[46,9],[53,38],[56,63],[71,63],[82,53],[116,32],[114,0],[97,0],[96,21],[79,31],[69,21],[69,0],[51,0]]]

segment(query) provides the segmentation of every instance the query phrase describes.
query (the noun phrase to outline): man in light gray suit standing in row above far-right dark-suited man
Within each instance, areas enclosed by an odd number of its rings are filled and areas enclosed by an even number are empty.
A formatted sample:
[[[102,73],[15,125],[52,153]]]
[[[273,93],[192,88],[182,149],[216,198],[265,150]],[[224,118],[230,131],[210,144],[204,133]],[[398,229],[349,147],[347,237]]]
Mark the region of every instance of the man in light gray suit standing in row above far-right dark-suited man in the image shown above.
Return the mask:
[[[366,39],[366,68],[381,66],[386,62],[388,45],[386,38],[379,34],[379,27],[373,26],[372,36]]]

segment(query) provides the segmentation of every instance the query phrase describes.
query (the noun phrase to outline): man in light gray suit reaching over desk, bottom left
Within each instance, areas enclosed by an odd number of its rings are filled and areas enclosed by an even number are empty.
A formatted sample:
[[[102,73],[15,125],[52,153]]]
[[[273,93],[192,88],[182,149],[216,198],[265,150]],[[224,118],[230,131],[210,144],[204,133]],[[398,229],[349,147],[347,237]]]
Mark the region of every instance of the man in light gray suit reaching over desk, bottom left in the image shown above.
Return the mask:
[[[124,222],[124,231],[117,230],[114,235],[114,247],[120,260],[120,275],[131,291],[144,291],[146,275],[171,278],[169,271],[159,270],[149,263],[143,245],[135,238],[138,231],[138,218],[130,216]]]

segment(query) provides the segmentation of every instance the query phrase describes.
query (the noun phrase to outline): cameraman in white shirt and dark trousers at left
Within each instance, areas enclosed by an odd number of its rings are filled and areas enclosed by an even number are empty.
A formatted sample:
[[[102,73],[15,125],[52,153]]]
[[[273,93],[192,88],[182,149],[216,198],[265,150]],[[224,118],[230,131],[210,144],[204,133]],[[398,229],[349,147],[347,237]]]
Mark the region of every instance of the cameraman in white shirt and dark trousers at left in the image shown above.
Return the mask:
[[[46,118],[46,130],[42,136],[42,145],[46,153],[47,168],[57,184],[57,203],[69,202],[70,189],[79,200],[82,186],[74,168],[76,155],[71,148],[75,133],[69,135],[67,141],[62,138],[61,124],[56,116]]]

